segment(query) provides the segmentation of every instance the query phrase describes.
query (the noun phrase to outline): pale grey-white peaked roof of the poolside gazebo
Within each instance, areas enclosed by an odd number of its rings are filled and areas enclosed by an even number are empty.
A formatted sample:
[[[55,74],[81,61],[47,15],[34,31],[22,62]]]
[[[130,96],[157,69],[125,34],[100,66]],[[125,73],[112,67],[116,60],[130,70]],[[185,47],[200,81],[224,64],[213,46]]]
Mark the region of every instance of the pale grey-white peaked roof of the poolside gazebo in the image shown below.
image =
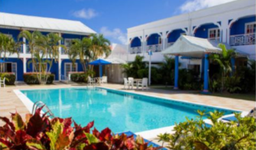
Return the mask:
[[[165,49],[162,54],[204,57],[205,52],[220,53],[221,49],[205,38],[182,35],[171,47]]]

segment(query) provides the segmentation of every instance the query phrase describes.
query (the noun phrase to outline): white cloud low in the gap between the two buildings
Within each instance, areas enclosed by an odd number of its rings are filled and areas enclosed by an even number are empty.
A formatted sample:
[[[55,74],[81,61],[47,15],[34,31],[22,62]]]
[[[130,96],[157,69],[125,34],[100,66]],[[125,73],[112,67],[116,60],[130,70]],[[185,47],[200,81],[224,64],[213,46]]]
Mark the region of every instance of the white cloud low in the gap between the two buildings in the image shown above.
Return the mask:
[[[108,29],[108,27],[101,27],[100,33],[104,34],[106,37],[112,38],[113,40],[117,40],[122,44],[127,43],[127,35],[119,28],[115,28],[111,31]]]

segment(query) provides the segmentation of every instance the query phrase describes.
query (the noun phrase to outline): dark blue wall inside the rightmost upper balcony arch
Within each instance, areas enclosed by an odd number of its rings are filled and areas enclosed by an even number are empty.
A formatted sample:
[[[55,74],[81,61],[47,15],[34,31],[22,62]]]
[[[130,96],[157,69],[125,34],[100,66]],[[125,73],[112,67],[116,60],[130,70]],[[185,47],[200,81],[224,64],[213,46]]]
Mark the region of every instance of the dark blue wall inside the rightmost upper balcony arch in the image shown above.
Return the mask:
[[[245,24],[249,22],[255,22],[255,16],[253,17],[246,17],[243,19],[239,19],[232,25],[230,29],[230,35],[236,34],[244,34],[245,33]]]

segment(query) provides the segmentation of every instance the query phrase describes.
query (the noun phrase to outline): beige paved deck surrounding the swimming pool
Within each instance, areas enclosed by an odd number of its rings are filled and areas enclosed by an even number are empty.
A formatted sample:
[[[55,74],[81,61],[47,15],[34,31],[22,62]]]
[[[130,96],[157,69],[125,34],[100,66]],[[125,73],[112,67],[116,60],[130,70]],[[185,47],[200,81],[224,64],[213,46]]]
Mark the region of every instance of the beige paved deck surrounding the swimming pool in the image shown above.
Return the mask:
[[[26,109],[25,105],[20,101],[17,95],[13,92],[15,89],[52,89],[59,87],[78,87],[78,86],[86,86],[85,84],[62,84],[62,83],[54,83],[49,86],[28,86],[26,84],[18,84],[16,86],[7,86],[5,88],[0,88],[0,116],[10,118],[10,112],[19,112],[19,114],[24,118],[26,114],[29,113],[28,109]],[[189,93],[188,91],[168,91],[163,89],[148,89],[142,91],[141,89],[124,89],[123,85],[120,84],[106,84],[100,87],[106,87],[110,89],[118,89],[129,91],[131,93],[141,93],[147,94],[150,96],[157,96],[163,98],[170,98],[180,101],[189,101],[193,103],[199,103],[202,105],[211,105],[214,107],[222,107],[227,109],[241,110],[241,111],[249,111],[253,107],[255,107],[255,101],[246,101],[239,100],[233,98],[221,98],[218,96],[208,96],[204,94],[195,94]],[[0,121],[0,126],[3,125],[3,122]]]

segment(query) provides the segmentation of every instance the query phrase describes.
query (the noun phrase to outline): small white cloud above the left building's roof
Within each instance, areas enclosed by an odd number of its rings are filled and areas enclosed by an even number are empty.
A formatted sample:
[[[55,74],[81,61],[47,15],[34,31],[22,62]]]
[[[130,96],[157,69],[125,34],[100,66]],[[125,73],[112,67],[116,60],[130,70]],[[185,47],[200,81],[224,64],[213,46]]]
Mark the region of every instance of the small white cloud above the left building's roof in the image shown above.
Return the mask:
[[[92,19],[98,15],[98,13],[92,8],[77,10],[72,13],[74,17],[81,19]]]

